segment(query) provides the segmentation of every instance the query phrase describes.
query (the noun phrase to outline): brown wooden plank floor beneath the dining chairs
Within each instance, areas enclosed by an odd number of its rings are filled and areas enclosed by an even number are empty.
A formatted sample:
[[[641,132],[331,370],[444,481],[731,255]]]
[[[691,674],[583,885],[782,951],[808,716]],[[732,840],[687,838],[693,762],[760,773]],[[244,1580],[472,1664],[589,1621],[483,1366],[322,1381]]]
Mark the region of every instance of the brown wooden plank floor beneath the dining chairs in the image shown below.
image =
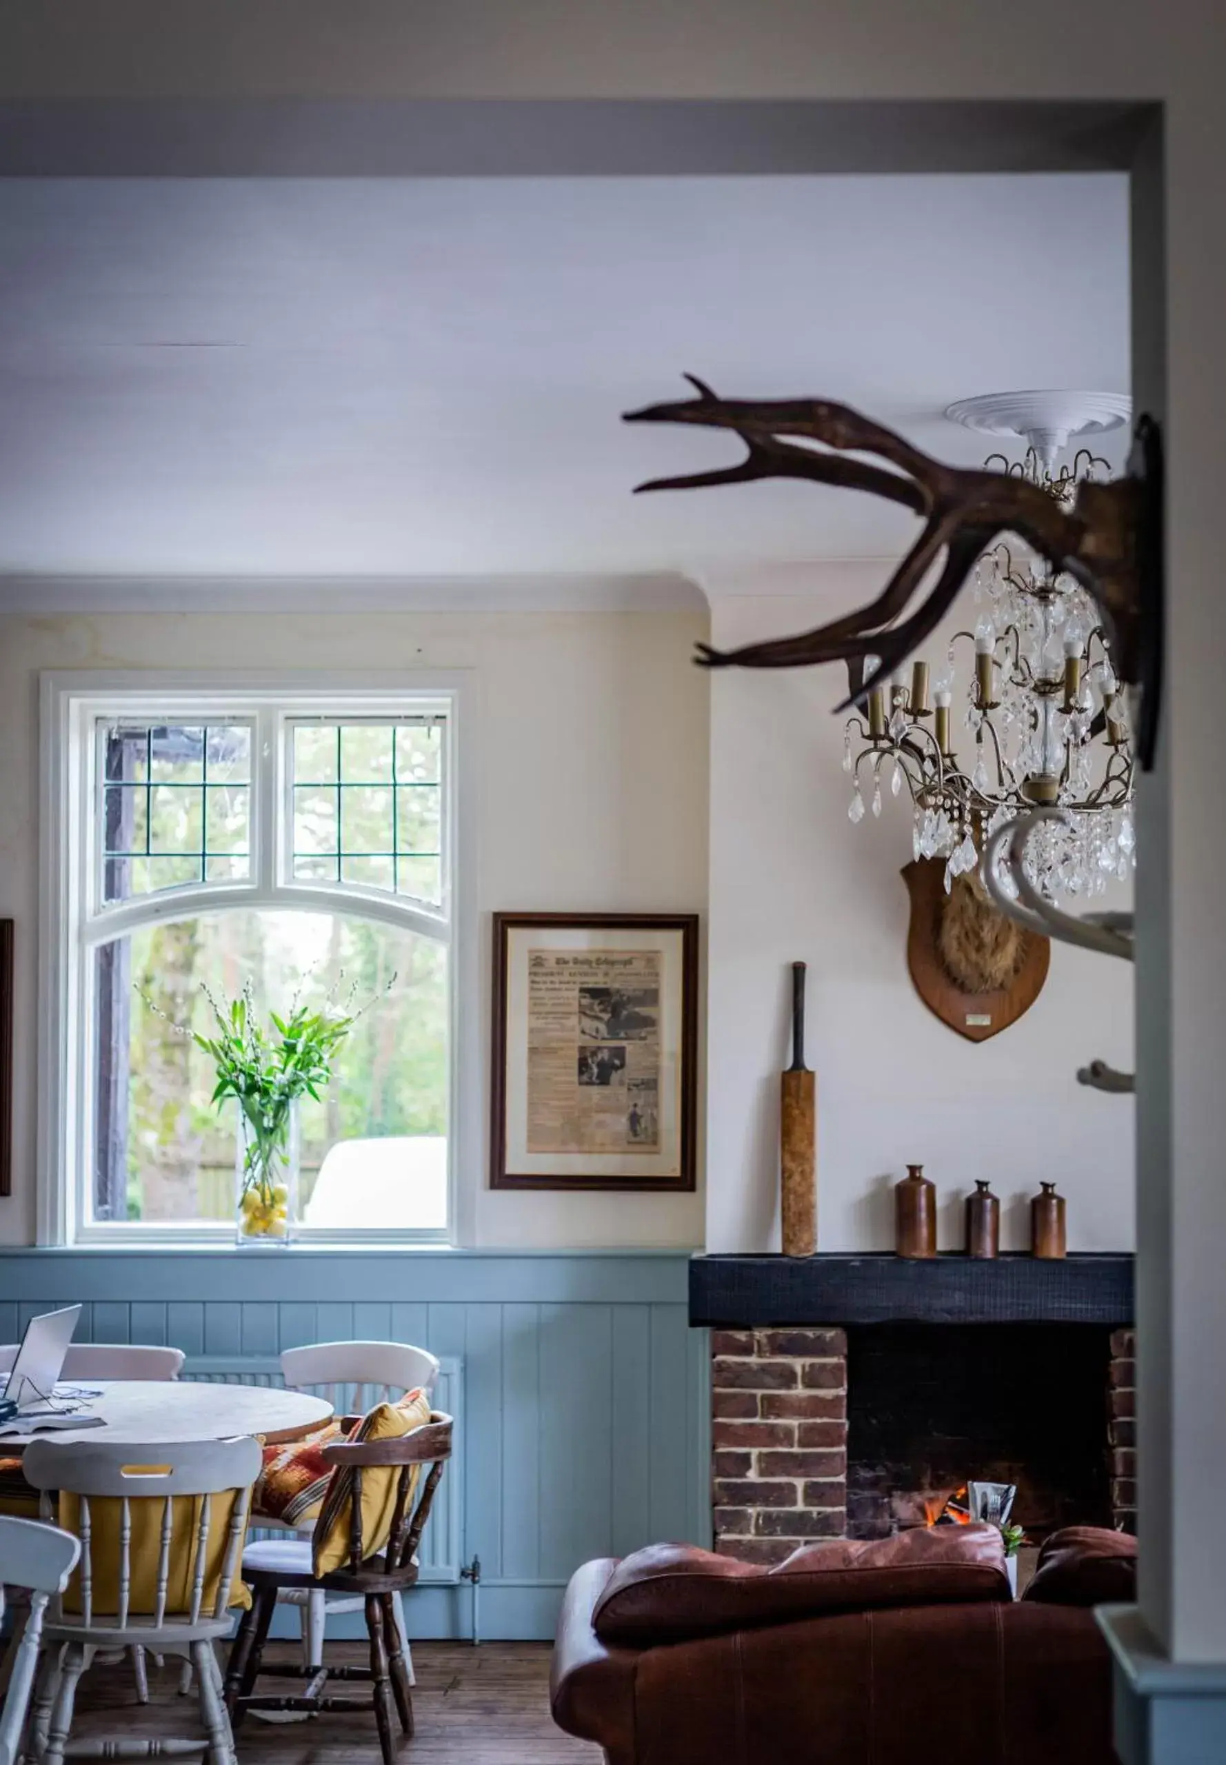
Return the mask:
[[[330,1643],[328,1659],[365,1664],[362,1643]],[[268,1661],[295,1659],[288,1645]],[[600,1747],[572,1740],[549,1714],[549,1643],[415,1643],[416,1735],[400,1765],[600,1765]],[[196,1700],[178,1698],[178,1670],[150,1663],[150,1703],[141,1709],[125,1666],[97,1666],[81,1682],[72,1739],[86,1735],[191,1735]],[[288,1680],[268,1689],[289,1691]],[[363,1687],[337,1687],[362,1696]],[[379,1765],[374,1716],[318,1716],[272,1724],[249,1716],[236,1737],[240,1765]]]

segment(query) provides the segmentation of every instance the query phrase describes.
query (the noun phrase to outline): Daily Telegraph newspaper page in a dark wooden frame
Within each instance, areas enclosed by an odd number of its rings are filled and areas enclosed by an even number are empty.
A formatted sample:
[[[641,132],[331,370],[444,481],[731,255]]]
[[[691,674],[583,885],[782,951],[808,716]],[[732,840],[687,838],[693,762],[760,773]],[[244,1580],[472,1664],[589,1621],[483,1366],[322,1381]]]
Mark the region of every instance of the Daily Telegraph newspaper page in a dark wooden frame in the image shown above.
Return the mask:
[[[496,913],[490,1188],[691,1190],[699,916]]]

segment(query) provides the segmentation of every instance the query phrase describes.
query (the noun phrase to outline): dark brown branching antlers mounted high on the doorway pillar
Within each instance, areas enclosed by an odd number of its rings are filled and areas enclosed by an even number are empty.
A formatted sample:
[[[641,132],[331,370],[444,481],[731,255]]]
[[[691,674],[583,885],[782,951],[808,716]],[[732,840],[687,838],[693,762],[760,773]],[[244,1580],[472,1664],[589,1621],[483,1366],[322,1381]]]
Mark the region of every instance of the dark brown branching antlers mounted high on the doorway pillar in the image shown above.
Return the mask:
[[[868,607],[797,637],[718,651],[699,646],[706,667],[811,667],[848,664],[852,692],[840,710],[884,683],[937,628],[976,560],[1000,533],[1016,533],[1053,570],[1067,570],[1094,597],[1113,644],[1117,676],[1140,688],[1138,754],[1148,770],[1157,734],[1161,680],[1161,447],[1157,425],[1143,417],[1124,478],[1081,482],[1069,507],[1041,485],[1011,473],[946,466],[903,436],[829,399],[753,402],[720,399],[693,374],[695,399],[628,411],[632,424],[699,424],[730,429],[744,459],[718,471],[653,478],[639,491],[688,491],[699,485],[750,484],[757,478],[810,478],[870,491],[901,503],[924,530],[884,591]],[[799,438],[799,439],[789,439]],[[808,443],[820,443],[820,448]],[[871,454],[871,466],[848,454]],[[914,612],[907,609],[940,563],[937,581]],[[878,658],[864,678],[864,658]]]

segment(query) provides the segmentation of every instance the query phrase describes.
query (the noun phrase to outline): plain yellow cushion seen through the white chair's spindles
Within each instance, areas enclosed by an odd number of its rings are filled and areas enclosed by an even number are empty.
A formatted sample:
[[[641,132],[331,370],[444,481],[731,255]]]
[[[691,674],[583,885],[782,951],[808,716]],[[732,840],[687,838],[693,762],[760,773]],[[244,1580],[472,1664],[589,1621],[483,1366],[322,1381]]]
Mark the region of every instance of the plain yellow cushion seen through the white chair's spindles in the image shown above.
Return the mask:
[[[212,1617],[217,1601],[226,1544],[229,1537],[229,1518],[238,1495],[231,1490],[208,1498],[208,1536],[205,1539],[205,1596],[201,1615]],[[203,1495],[176,1495],[171,1513],[171,1550],[169,1576],[166,1585],[166,1613],[182,1615],[192,1606],[192,1583],[196,1580],[196,1537]],[[152,1613],[157,1604],[157,1564],[162,1550],[162,1511],[166,1504],[161,1495],[129,1498],[131,1513],[131,1592],[129,1611]],[[120,1516],[122,1502],[116,1495],[90,1497],[90,1569],[92,1569],[92,1608],[95,1622],[99,1617],[118,1611],[120,1588]],[[60,1525],[74,1537],[81,1537],[81,1498],[69,1490],[60,1491]],[[228,1606],[250,1606],[250,1590],[243,1585],[242,1543],[235,1557],[235,1574],[229,1583]],[[81,1611],[81,1569],[78,1567],[64,1596],[65,1611]]]

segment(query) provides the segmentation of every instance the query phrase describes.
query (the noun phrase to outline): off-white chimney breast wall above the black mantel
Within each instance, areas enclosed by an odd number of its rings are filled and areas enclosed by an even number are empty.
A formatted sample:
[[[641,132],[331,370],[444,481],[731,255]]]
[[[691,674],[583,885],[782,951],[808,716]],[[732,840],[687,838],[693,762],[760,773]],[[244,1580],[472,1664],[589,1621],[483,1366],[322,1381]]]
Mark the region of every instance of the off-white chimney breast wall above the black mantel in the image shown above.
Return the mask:
[[[871,598],[887,565],[815,565],[757,593],[713,588],[713,642],[804,630]],[[748,584],[741,584],[743,588]],[[928,651],[938,657],[933,641]],[[1087,1091],[1092,1055],[1133,1068],[1133,971],[1053,946],[1032,1010],[986,1043],[946,1029],[907,973],[912,856],[905,800],[847,819],[841,669],[729,669],[711,692],[707,1248],[778,1248],[778,1068],[790,962],[808,962],[808,1064],[819,1089],[819,1246],[887,1250],[891,1184],[926,1165],[940,1246],[963,1244],[976,1177],[1002,1202],[1002,1243],[1028,1246],[1028,1197],[1057,1179],[1074,1250],[1134,1239],[1133,1101]],[[1115,905],[1117,902],[1113,902]]]

